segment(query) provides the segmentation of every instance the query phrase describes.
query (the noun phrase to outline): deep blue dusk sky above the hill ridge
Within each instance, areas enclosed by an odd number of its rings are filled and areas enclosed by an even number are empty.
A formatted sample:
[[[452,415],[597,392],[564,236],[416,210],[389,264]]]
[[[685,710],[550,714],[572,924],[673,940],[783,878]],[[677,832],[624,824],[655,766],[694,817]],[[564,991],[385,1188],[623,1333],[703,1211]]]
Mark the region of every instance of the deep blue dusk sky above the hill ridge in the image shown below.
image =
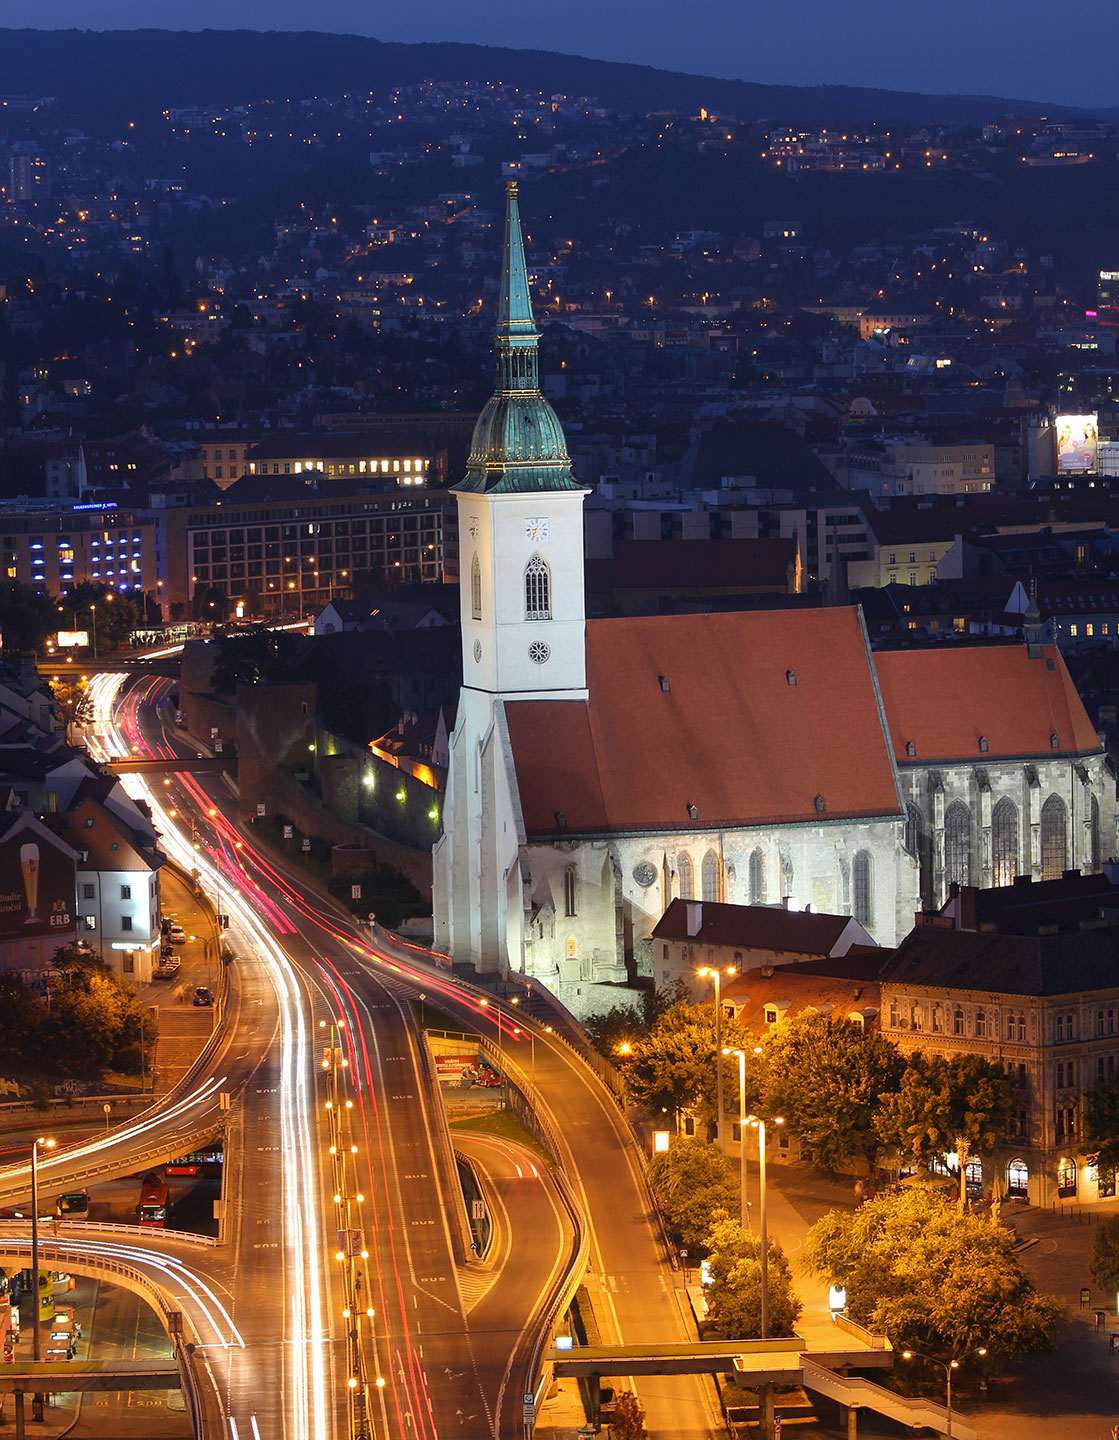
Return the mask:
[[[1119,3],[1079,0],[0,0],[7,26],[336,30],[634,60],[729,79],[1119,105]],[[513,76],[510,76],[511,79]]]

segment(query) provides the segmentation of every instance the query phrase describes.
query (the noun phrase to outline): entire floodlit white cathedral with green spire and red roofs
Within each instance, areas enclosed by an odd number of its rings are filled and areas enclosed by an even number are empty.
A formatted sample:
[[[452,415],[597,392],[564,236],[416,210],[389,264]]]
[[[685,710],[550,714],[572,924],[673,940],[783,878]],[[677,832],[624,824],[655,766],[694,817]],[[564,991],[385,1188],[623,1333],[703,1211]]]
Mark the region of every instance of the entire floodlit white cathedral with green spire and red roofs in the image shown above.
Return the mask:
[[[454,487],[438,949],[582,1015],[675,978],[651,939],[673,899],[850,914],[896,945],[953,881],[1113,855],[1115,780],[1035,612],[1021,645],[896,652],[858,608],[586,619],[586,490],[540,393],[516,181],[494,343]]]

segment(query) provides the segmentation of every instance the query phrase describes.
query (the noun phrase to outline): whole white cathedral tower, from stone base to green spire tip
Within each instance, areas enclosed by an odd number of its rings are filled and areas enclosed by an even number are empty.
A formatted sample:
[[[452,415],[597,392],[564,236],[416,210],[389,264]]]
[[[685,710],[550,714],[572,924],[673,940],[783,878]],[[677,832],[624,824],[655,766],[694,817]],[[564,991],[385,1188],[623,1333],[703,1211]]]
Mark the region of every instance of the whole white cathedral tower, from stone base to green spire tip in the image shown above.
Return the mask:
[[[507,700],[586,700],[583,495],[556,412],[540,393],[517,184],[494,347],[497,384],[458,501],[462,690],[433,852],[435,945],[508,973],[523,958],[524,841]]]

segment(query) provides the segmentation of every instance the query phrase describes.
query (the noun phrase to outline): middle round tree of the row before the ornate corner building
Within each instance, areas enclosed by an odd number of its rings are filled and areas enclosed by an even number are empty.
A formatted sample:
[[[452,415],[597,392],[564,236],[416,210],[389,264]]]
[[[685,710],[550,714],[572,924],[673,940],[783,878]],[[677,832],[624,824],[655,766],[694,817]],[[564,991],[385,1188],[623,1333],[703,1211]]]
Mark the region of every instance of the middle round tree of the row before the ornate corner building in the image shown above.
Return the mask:
[[[827,1169],[855,1158],[873,1164],[874,1113],[904,1067],[897,1048],[819,1011],[786,1020],[763,1048],[763,1107],[785,1116],[801,1155]]]

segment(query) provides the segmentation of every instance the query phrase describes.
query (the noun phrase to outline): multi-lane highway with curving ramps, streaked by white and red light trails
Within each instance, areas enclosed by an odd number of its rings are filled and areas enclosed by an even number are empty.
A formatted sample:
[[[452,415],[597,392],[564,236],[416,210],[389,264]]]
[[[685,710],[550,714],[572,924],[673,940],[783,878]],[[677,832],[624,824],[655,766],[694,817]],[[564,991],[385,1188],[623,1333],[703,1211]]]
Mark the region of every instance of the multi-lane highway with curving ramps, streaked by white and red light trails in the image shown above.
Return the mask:
[[[96,675],[91,750],[193,757],[168,691],[166,678]],[[163,848],[197,870],[230,916],[229,1009],[173,1103],[45,1156],[40,1179],[56,1192],[94,1169],[131,1172],[138,1156],[181,1152],[189,1136],[226,1122],[223,1243],[145,1233],[150,1256],[140,1257],[156,1272],[181,1267],[160,1272],[160,1283],[206,1346],[207,1436],[344,1440],[363,1427],[385,1440],[521,1436],[521,1391],[576,1253],[603,1341],[694,1338],[665,1279],[624,1116],[557,1034],[459,984],[425,952],[370,942],[305,877],[258,850],[220,775],[128,775],[122,783],[151,806]],[[523,1089],[536,1081],[562,1161],[559,1172],[507,1142],[457,1138],[498,1210],[498,1247],[485,1264],[467,1263],[449,1142],[416,1025],[421,991],[464,1030],[494,1038],[500,1030]],[[232,1096],[228,1112],[222,1093]],[[0,1195],[20,1184],[26,1192],[26,1169],[0,1174]],[[580,1212],[595,1220],[589,1250]],[[73,1227],[60,1243],[72,1237]],[[114,1246],[131,1247],[135,1259],[135,1238],[84,1243],[107,1247],[109,1259]],[[713,1433],[707,1382],[635,1388],[651,1434]]]

